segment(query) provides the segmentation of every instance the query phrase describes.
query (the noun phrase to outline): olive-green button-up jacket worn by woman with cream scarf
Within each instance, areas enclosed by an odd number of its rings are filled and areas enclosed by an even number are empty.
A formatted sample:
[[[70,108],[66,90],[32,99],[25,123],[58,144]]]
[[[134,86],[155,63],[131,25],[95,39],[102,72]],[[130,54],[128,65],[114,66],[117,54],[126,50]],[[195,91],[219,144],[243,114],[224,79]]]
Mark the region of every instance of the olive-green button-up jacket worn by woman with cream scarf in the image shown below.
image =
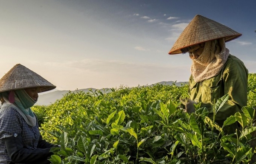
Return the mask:
[[[218,75],[201,82],[195,82],[192,75],[189,78],[190,99],[201,102],[201,107],[207,107],[208,117],[213,119],[213,103],[218,98],[229,94],[230,99],[215,115],[215,120],[223,122],[230,115],[241,112],[247,105],[248,70],[244,63],[233,55],[229,55],[224,68]]]

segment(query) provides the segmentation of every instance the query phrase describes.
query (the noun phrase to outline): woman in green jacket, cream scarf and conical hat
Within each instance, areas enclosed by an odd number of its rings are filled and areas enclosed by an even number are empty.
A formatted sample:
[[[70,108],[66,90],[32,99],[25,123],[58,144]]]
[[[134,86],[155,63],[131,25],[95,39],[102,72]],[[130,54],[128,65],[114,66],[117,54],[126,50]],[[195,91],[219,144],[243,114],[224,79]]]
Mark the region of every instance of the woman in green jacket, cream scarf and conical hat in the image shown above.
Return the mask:
[[[193,104],[201,103],[201,107],[207,107],[208,117],[213,118],[214,100],[229,94],[215,117],[221,125],[247,105],[248,70],[225,46],[225,42],[240,36],[221,23],[196,15],[178,37],[169,54],[188,52],[192,59],[187,112],[194,112]]]

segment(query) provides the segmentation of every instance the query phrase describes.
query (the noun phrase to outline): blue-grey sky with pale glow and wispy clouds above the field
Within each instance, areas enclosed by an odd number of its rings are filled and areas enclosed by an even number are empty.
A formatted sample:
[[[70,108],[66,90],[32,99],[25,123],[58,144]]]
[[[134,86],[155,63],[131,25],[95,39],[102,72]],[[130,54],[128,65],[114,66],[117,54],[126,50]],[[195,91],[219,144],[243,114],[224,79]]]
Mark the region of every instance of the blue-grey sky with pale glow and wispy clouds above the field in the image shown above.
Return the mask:
[[[200,14],[242,34],[226,43],[256,73],[255,0],[0,0],[0,77],[15,64],[58,90],[188,81],[168,52]]]

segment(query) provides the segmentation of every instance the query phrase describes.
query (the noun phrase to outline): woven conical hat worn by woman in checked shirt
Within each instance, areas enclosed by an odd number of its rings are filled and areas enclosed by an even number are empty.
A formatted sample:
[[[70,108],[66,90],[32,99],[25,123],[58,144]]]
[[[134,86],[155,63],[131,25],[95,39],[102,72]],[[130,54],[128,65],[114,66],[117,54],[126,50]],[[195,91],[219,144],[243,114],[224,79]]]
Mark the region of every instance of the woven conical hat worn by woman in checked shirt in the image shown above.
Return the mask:
[[[56,88],[52,83],[21,64],[16,64],[0,79],[0,92],[32,87],[40,87],[39,92]]]

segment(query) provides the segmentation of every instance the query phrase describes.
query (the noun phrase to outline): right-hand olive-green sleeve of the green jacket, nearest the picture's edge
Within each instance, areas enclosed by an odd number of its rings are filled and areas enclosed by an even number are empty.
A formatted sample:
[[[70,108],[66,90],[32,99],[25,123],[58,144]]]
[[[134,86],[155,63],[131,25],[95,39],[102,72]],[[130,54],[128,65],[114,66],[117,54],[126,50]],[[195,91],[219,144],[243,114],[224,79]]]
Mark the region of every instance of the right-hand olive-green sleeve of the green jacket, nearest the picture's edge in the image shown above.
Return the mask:
[[[248,70],[241,60],[235,58],[227,63],[222,72],[224,95],[229,94],[230,99],[221,107],[215,116],[216,121],[225,121],[230,115],[241,112],[247,105],[247,78]],[[216,100],[217,101],[217,100]],[[213,105],[201,104],[209,110],[209,118],[213,118]]]

